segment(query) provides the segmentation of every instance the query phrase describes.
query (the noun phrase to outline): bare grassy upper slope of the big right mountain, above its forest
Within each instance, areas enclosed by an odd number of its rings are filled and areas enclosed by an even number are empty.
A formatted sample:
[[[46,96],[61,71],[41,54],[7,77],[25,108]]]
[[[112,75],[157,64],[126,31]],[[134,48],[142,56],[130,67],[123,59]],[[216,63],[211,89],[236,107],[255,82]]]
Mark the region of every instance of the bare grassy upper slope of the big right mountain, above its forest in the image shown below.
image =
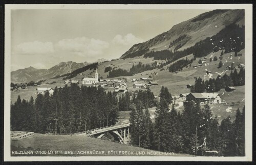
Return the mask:
[[[183,50],[220,32],[226,25],[244,25],[244,10],[214,10],[181,22],[169,31],[146,42],[133,45],[120,59],[142,56],[145,52]],[[183,36],[183,37],[182,37]]]

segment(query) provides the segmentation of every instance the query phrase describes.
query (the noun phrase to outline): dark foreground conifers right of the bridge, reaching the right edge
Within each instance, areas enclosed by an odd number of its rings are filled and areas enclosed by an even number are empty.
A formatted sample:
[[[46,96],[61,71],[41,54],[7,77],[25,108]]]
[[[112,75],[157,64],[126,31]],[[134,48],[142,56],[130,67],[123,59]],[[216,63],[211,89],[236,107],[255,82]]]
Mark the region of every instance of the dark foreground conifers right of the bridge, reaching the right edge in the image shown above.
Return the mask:
[[[154,124],[140,100],[129,106],[131,144],[155,150],[159,147],[163,152],[195,154],[197,150],[202,156],[207,155],[205,151],[214,151],[208,153],[211,156],[245,155],[245,107],[242,113],[237,109],[233,122],[228,117],[219,124],[208,104],[202,108],[199,102],[188,101],[182,113],[177,113],[174,104],[170,110],[163,91]]]

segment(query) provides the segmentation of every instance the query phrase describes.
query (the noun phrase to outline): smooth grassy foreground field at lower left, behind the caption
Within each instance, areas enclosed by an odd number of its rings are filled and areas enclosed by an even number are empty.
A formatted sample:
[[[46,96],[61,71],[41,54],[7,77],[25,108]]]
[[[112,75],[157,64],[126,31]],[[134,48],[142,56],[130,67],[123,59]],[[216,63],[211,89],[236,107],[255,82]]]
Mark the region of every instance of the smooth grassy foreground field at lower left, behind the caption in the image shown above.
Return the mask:
[[[19,148],[18,148],[19,146]],[[87,136],[49,135],[35,133],[33,136],[18,141],[11,141],[11,150],[41,150],[41,151],[104,151],[105,154],[40,154],[30,156],[160,156],[147,154],[153,150],[126,146],[115,142],[95,139]],[[134,154],[108,154],[110,151],[130,151]],[[144,151],[145,155],[136,155],[136,151]],[[102,153],[102,152],[101,152]],[[19,156],[19,155],[16,155]],[[24,155],[26,156],[26,155]],[[174,154],[161,156],[193,156],[188,154]]]

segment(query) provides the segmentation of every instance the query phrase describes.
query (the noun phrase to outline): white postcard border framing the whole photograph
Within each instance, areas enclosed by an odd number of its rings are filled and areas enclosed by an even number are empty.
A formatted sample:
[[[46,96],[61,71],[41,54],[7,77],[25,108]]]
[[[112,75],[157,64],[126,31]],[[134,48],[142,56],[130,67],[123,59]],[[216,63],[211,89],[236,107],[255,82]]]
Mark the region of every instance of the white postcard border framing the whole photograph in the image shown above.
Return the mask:
[[[244,157],[176,157],[176,156],[32,156],[11,157],[10,144],[10,87],[11,82],[11,10],[13,9],[245,9],[245,149]],[[170,27],[172,28],[172,27]],[[252,4],[207,5],[5,5],[5,106],[4,106],[4,161],[252,161]]]

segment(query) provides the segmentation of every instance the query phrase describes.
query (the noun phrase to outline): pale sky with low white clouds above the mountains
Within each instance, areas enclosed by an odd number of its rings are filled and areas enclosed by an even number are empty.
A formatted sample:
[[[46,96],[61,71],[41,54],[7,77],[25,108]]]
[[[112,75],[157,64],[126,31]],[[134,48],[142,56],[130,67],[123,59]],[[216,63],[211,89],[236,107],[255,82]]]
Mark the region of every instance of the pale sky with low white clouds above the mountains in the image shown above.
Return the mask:
[[[209,10],[12,10],[11,71],[117,59]]]

